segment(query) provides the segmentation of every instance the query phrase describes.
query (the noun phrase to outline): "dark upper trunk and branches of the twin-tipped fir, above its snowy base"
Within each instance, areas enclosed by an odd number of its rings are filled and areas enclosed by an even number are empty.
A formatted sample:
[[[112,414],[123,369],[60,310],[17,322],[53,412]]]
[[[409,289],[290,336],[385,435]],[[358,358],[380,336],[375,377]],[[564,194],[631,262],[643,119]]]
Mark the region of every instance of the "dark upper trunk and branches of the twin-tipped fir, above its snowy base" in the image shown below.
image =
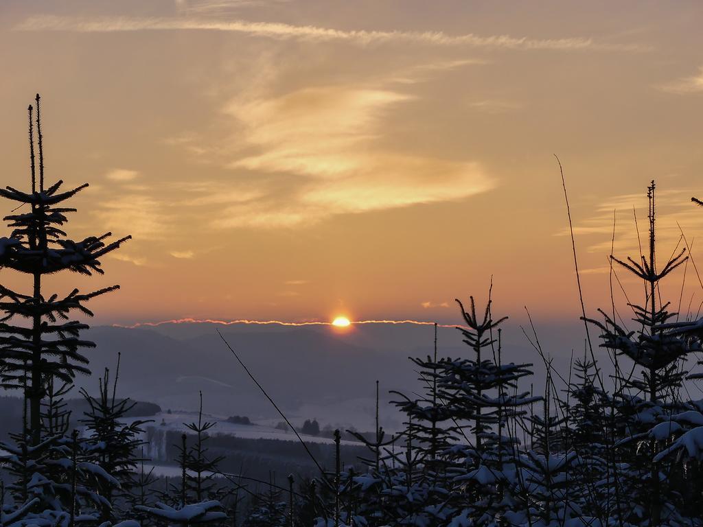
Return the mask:
[[[13,230],[9,238],[0,240],[0,265],[32,277],[31,293],[15,292],[0,286],[0,309],[6,313],[0,323],[0,366],[4,387],[25,389],[25,396],[30,402],[29,433],[32,443],[39,445],[42,433],[41,400],[46,396],[46,386],[53,386],[54,382],[71,383],[76,373],[90,373],[86,366],[88,359],[82,355],[82,350],[95,344],[80,338],[80,332],[88,326],[78,320],[70,320],[70,313],[78,311],[83,315],[93,315],[85,303],[119,287],[114,285],[86,294],[73,289],[61,297],[46,294],[42,278],[61,271],[82,275],[102,274],[101,257],[120,247],[130,237],[110,243],[106,242],[110,233],[77,242],[67,238],[62,228],[67,221],[66,214],[75,212],[75,209],[65,207],[63,202],[88,184],[66,192],[60,192],[63,181],[45,185],[39,94],[36,101],[39,166],[35,163],[35,123],[30,106],[30,191],[9,186],[0,189],[1,197],[18,203],[16,209],[21,209],[4,218]],[[14,323],[15,319],[28,320],[29,327]],[[28,379],[26,384],[22,382],[24,377]]]

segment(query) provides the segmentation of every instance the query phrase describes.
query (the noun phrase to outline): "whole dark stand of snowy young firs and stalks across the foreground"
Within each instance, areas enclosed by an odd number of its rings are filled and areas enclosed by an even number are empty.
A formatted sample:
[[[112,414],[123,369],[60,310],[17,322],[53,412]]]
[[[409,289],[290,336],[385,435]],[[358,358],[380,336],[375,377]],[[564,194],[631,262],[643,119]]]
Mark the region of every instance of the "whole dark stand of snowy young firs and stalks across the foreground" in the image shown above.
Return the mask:
[[[703,377],[695,372],[703,319],[682,308],[678,285],[697,269],[683,232],[670,256],[657,254],[654,182],[642,198],[649,213],[640,254],[610,255],[611,282],[613,269],[630,273],[641,282],[638,297],[628,299],[626,312],[614,301],[594,313],[583,308],[570,370],[553,367],[533,325],[524,337],[539,360],[503,360],[506,317],[494,312],[491,292],[485,305],[458,300],[463,353],[435,351],[398,365],[416,370],[423,384],[421,393],[392,393],[404,429],[385,431],[377,403],[375,430],[334,431],[328,455],[304,441],[220,335],[252,390],[269,398],[299,440],[286,448],[307,458],[315,475],[262,481],[238,473],[217,449],[224,440],[201,398],[187,433],[163,435],[179,467],[179,476],[163,478],[148,469],[149,419],[126,419],[136,401],[120,393],[120,357],[114,371],[91,371],[95,344],[82,337],[91,299],[119,294],[120,286],[67,293],[46,287],[55,273],[103,274],[103,257],[130,236],[68,237],[65,224],[76,212],[70,199],[87,183],[66,189],[45,177],[38,95],[27,124],[27,187],[0,190],[11,209],[0,238],[1,272],[21,273],[27,285],[0,285],[0,380],[22,401],[6,415],[16,422],[5,423],[13,431],[0,443],[2,526],[703,525],[703,399],[693,395]],[[662,297],[662,282],[681,296]],[[539,385],[538,370],[546,378]],[[92,375],[96,391],[76,393],[79,375]],[[75,398],[82,406],[67,402]],[[231,419],[249,424],[247,417]],[[342,434],[359,452],[344,453]],[[230,440],[244,448],[239,441]],[[247,448],[262,443],[252,444]]]

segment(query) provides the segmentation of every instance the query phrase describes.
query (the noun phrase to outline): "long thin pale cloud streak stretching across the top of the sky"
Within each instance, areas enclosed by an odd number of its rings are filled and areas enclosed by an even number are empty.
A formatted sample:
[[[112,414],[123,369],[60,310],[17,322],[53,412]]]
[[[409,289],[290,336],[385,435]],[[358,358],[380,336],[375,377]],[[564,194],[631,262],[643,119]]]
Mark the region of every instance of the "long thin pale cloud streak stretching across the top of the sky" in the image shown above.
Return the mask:
[[[608,44],[587,37],[563,39],[531,39],[510,35],[482,36],[474,33],[451,35],[441,31],[367,31],[336,30],[315,25],[291,25],[280,22],[251,22],[248,20],[202,20],[198,18],[161,17],[75,17],[37,15],[27,18],[15,27],[21,31],[72,31],[72,32],[129,32],[200,30],[222,31],[280,40],[313,42],[344,41],[362,46],[370,44],[428,44],[432,46],[470,46],[515,50],[583,50],[600,49],[637,51],[633,44]]]

